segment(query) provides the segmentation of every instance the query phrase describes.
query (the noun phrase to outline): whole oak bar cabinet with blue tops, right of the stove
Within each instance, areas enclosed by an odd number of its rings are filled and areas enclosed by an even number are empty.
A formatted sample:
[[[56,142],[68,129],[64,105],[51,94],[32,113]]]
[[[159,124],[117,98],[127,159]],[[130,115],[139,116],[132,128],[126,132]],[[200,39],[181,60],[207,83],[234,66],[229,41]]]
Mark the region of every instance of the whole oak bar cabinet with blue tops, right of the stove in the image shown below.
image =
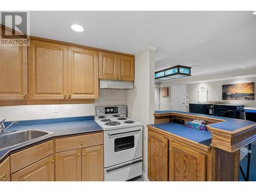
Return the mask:
[[[148,179],[239,180],[239,149],[256,140],[255,122],[177,111],[154,116],[155,124],[147,125]],[[174,119],[204,120],[208,131],[191,130]]]

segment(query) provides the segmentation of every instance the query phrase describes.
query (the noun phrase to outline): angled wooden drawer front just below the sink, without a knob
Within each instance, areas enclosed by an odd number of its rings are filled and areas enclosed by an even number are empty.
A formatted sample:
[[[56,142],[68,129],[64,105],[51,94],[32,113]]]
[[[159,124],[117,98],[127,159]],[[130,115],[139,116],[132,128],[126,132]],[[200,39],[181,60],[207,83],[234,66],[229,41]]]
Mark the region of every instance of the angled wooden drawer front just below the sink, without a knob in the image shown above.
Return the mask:
[[[53,140],[10,155],[11,174],[53,154]]]

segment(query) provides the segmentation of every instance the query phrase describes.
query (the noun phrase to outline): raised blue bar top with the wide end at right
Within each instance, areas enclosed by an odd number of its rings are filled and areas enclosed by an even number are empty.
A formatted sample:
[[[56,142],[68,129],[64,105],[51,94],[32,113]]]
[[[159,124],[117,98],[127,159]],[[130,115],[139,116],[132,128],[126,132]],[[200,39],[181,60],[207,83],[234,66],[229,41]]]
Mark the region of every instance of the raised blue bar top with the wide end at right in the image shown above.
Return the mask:
[[[155,111],[155,114],[168,114],[168,113],[179,113],[179,114],[185,114],[185,115],[195,115],[195,116],[199,116],[199,117],[201,116],[201,117],[224,120],[222,122],[211,124],[210,126],[212,128],[230,131],[230,132],[242,129],[243,127],[246,127],[249,125],[251,125],[251,126],[254,125],[256,127],[255,122],[248,121],[248,120],[242,120],[242,119],[233,119],[233,118],[227,118],[227,117],[219,117],[219,116],[180,112],[180,111]]]

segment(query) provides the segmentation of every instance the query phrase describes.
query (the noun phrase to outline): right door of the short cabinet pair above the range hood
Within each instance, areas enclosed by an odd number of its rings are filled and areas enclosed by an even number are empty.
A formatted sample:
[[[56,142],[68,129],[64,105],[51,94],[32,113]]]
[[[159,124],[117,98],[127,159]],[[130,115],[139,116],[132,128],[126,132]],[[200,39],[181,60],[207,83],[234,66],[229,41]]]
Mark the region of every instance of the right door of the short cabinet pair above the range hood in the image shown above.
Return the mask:
[[[118,79],[134,81],[134,57],[118,55]]]

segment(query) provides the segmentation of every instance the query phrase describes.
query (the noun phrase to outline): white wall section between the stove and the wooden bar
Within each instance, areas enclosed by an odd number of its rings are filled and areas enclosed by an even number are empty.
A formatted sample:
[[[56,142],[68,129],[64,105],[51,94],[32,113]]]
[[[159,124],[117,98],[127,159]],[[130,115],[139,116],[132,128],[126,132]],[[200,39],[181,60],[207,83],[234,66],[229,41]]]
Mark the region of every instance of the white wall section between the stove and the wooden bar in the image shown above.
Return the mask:
[[[154,123],[155,52],[135,55],[135,89],[127,94],[128,116],[143,123],[143,171],[147,174],[147,127]]]

